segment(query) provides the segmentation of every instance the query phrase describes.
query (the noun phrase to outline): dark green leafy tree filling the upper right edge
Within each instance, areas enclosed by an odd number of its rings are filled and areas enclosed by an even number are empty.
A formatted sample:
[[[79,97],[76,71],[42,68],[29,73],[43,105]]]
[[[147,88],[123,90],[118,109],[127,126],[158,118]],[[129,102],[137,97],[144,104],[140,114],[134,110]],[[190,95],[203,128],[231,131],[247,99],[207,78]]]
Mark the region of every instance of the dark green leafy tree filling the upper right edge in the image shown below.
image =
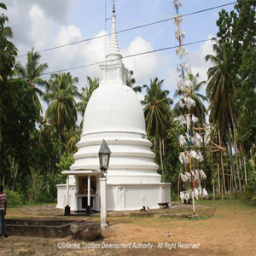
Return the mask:
[[[234,99],[240,110],[238,118],[238,137],[247,150],[256,142],[256,3],[253,0],[237,1],[230,14],[219,13],[217,36],[220,44],[230,47],[230,74],[236,82]]]

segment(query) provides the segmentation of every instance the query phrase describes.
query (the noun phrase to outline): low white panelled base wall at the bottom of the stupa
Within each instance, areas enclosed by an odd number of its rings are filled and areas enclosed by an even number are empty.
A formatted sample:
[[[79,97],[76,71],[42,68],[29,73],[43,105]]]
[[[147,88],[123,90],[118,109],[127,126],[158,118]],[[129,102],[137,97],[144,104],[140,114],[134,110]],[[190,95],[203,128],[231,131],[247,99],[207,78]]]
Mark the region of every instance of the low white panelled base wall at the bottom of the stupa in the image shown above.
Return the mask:
[[[57,185],[58,205],[57,208],[64,208],[66,201],[66,185]],[[70,207],[71,210],[79,211],[79,196],[73,195],[74,189],[70,188]],[[107,211],[139,210],[143,206],[149,209],[159,208],[159,203],[169,203],[171,206],[171,183],[107,183]],[[92,195],[94,196],[94,195]],[[99,195],[96,206],[99,204]],[[78,201],[79,203],[77,203]],[[100,211],[100,207],[94,208]],[[85,209],[84,209],[85,211]]]

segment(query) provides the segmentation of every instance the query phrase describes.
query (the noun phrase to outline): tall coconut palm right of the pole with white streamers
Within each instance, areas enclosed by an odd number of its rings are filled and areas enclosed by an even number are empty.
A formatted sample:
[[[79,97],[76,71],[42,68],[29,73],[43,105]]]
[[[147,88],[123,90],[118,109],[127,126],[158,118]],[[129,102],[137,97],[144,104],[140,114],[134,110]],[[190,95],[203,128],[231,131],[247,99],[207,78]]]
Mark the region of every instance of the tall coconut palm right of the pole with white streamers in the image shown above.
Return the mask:
[[[230,55],[230,46],[226,43],[218,44],[218,40],[213,38],[213,51],[215,55],[207,55],[206,61],[211,61],[214,65],[207,71],[208,84],[207,96],[210,99],[210,119],[213,125],[221,125],[220,131],[227,131],[229,135],[229,148],[230,148],[230,162],[236,185],[236,176],[234,169],[234,162],[232,156],[232,146],[230,130],[233,130],[234,148],[236,154],[236,109],[234,102],[234,93],[236,91],[235,79],[232,76],[232,66],[235,65]],[[241,179],[239,172],[239,164],[236,154],[236,171],[239,182],[239,190],[242,192]]]

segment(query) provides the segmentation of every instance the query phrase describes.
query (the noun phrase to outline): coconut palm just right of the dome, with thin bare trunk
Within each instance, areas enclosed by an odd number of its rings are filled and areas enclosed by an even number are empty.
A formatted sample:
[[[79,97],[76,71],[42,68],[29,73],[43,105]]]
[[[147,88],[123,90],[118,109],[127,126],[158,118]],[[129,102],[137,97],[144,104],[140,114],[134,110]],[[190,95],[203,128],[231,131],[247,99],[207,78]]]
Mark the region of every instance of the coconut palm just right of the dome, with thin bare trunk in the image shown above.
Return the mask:
[[[164,80],[155,78],[150,79],[150,84],[144,84],[146,89],[144,115],[148,135],[154,137],[154,147],[156,148],[156,139],[160,142],[160,161],[162,168],[162,178],[165,178],[164,166],[161,152],[161,141],[166,136],[168,114],[170,113],[170,105],[172,99],[168,97],[169,91],[162,90],[161,86]]]

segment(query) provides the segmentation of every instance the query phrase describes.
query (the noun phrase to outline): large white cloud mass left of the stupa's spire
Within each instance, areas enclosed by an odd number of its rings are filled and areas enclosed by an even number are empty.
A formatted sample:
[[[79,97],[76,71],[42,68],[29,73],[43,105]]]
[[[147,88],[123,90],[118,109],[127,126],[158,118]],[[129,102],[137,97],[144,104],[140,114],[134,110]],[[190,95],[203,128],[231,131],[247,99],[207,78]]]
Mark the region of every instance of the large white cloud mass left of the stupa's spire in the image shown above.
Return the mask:
[[[20,55],[26,54],[26,52],[32,47],[35,50],[48,49],[58,45],[70,44],[83,40],[81,30],[78,26],[73,24],[63,25],[56,20],[50,19],[45,13],[45,9],[38,4],[33,4],[27,9],[28,15],[23,15],[26,23],[26,29],[20,26],[20,30],[23,33],[23,41],[14,42],[20,49]],[[21,17],[19,17],[19,20]],[[25,33],[26,32],[26,33]],[[20,32],[21,33],[21,32]],[[26,36],[27,35],[27,36]],[[92,37],[99,37],[105,35],[105,31],[101,31]],[[109,37],[106,38],[106,44],[108,49]],[[19,45],[19,46],[18,46]],[[71,46],[49,50],[41,52],[42,58],[40,63],[48,63],[49,70],[46,73],[57,72],[61,69],[67,69],[72,67],[86,66],[91,63],[96,63],[104,60],[105,56],[105,38],[97,38],[88,42],[73,44]],[[17,59],[21,63],[26,65],[26,57]],[[92,79],[94,77],[101,78],[101,70],[98,65],[91,67],[78,68],[65,71],[70,72],[73,77],[79,78],[79,90],[84,84],[87,84],[87,76]],[[49,79],[49,75],[42,77],[43,79]],[[46,104],[42,102],[44,113],[46,111]]]

